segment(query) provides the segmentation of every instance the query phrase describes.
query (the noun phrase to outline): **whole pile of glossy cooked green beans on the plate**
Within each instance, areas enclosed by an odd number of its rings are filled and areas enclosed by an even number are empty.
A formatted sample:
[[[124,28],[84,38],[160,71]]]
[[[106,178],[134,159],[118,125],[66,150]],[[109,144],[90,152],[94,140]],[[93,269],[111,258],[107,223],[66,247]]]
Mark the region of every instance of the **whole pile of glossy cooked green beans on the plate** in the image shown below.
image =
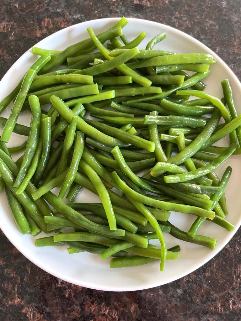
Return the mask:
[[[203,92],[211,55],[153,49],[165,33],[139,49],[146,34],[129,41],[127,23],[98,35],[88,28],[89,39],[63,51],[32,48],[40,58],[0,102],[1,113],[13,101],[9,118],[0,117],[0,190],[22,234],[55,231],[36,239],[38,247],[113,256],[111,268],[160,261],[163,271],[181,250],[167,249],[165,233],[213,249],[217,240],[197,233],[204,221],[234,229],[224,193],[232,169],[220,180],[214,170],[241,154],[241,115],[227,79],[221,100]],[[30,125],[17,123],[28,109]],[[12,133],[28,138],[8,147]],[[229,146],[212,145],[226,135]],[[83,188],[100,203],[80,203]],[[171,211],[197,218],[182,231],[168,221]]]

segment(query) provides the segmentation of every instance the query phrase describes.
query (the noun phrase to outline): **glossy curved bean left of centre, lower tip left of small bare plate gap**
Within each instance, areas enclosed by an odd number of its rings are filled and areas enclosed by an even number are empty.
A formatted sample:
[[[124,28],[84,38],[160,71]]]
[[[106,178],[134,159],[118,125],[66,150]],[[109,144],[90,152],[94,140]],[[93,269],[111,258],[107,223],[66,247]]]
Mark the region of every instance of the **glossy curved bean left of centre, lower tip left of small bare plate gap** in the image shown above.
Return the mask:
[[[77,122],[77,119],[76,119],[76,122]],[[80,162],[83,150],[84,150],[84,135],[81,131],[77,131],[71,165],[68,169],[63,185],[61,186],[58,197],[63,198],[67,190],[73,183],[76,176],[76,172],[78,170],[78,166],[79,166],[79,162]]]

